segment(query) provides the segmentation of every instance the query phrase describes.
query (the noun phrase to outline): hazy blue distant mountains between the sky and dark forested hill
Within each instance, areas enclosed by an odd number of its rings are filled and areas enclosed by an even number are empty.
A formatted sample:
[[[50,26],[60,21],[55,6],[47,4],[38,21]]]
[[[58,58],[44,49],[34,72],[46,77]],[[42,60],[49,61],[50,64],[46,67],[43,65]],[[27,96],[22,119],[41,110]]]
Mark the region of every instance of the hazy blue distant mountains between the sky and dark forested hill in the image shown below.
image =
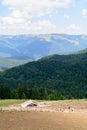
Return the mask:
[[[14,67],[48,55],[72,54],[86,48],[86,35],[0,35],[0,69]],[[5,64],[2,65],[1,59]],[[7,60],[11,65],[6,64]]]

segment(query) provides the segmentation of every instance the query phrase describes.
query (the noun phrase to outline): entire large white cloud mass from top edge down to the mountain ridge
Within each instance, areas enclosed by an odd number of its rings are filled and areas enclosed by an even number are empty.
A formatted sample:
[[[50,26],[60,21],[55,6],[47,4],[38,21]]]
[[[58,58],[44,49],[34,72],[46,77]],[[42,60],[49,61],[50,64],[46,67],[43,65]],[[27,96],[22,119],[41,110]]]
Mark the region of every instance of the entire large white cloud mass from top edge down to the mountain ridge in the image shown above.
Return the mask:
[[[50,33],[56,26],[45,16],[52,17],[55,8],[65,7],[72,0],[3,0],[10,13],[0,18],[0,33]],[[39,20],[43,17],[43,20]],[[37,19],[37,20],[36,20]]]

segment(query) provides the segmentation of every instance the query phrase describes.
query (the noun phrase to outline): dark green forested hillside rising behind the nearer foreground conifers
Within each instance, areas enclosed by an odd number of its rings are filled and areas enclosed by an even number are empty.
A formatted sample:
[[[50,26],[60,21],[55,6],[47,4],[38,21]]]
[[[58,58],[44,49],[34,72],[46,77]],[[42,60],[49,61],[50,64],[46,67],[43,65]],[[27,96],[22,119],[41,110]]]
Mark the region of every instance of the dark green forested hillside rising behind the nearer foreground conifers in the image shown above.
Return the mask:
[[[0,84],[57,90],[67,98],[87,97],[87,53],[52,55],[3,72]]]

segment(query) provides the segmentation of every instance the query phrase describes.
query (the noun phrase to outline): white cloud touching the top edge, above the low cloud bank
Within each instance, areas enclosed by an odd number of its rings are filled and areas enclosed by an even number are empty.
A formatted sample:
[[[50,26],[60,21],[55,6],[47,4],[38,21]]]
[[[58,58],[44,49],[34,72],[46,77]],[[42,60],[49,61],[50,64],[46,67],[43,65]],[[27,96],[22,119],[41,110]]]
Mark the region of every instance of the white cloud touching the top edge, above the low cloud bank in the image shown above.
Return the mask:
[[[51,13],[52,9],[65,7],[71,0],[3,0],[3,5],[8,6],[13,14],[38,17]]]

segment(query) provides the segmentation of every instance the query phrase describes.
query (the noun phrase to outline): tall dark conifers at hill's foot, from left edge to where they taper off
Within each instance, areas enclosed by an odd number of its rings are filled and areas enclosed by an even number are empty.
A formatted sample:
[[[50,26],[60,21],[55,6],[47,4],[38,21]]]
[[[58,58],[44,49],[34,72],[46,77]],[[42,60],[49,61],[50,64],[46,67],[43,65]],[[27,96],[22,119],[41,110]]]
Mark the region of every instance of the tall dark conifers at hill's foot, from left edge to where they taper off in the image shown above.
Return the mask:
[[[59,94],[57,90],[18,85],[16,89],[9,86],[0,86],[0,99],[38,99],[38,100],[63,100],[66,97]]]

